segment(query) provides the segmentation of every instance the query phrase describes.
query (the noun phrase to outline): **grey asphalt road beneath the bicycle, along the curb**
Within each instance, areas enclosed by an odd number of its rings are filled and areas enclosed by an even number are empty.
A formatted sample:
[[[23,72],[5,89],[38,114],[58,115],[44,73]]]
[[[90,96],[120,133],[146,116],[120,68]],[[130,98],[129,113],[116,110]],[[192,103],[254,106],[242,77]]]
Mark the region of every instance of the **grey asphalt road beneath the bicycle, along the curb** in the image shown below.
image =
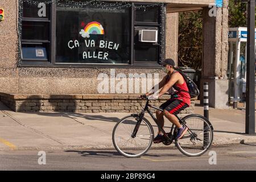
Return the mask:
[[[217,164],[209,164],[210,151],[216,152]],[[0,170],[256,170],[256,143],[213,147],[200,157],[175,148],[150,150],[137,159],[109,150],[46,151],[45,165],[38,164],[38,152],[0,151]]]

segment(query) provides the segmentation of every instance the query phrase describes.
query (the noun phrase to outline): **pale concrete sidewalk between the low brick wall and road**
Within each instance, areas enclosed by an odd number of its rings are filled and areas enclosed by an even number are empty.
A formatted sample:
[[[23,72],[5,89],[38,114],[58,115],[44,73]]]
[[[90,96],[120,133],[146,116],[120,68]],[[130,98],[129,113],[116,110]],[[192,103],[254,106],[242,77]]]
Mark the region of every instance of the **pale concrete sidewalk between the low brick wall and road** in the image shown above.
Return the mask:
[[[195,113],[203,114],[196,106]],[[112,130],[127,113],[15,113],[0,102],[0,150],[113,149]],[[245,111],[210,109],[213,146],[256,142],[243,134]],[[155,130],[157,127],[150,117]],[[170,122],[166,121],[166,126]],[[153,148],[166,147],[153,144]]]

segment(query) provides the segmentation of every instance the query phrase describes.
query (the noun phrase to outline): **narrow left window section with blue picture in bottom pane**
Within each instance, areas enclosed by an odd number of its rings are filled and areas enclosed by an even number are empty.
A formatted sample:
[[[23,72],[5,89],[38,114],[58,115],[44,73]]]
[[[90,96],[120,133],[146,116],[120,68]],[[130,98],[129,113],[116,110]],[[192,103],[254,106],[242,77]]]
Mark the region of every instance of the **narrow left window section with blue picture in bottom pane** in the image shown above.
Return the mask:
[[[50,27],[49,5],[23,2],[22,11],[22,52],[23,61],[49,63]]]

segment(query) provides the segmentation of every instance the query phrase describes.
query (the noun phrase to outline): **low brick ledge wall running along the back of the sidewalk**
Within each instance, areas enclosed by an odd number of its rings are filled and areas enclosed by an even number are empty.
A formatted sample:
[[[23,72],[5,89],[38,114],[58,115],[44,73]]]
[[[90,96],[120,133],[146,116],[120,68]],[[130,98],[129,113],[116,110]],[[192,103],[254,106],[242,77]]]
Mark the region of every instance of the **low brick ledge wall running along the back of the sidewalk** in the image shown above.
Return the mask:
[[[1,101],[14,111],[52,112],[66,111],[73,113],[138,113],[145,100],[137,100],[137,95],[19,95],[0,93]],[[150,101],[151,105],[160,106],[170,96],[162,96],[159,100]],[[181,114],[191,114],[195,102],[181,111]],[[154,109],[152,109],[155,112]]]

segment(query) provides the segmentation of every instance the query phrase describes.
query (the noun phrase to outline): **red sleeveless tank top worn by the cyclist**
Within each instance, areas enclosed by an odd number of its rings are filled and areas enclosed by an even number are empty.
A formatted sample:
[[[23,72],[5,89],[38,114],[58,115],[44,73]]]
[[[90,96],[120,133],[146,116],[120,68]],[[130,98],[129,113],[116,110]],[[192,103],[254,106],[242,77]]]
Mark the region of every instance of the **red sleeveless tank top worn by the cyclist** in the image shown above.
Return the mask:
[[[175,73],[177,71],[174,71],[173,73]],[[179,73],[180,74],[180,73]],[[170,80],[170,76],[167,76],[167,81]],[[188,93],[188,86],[187,83],[185,82],[184,78],[183,78],[183,84],[177,84],[175,83],[174,85],[172,85],[172,87],[177,90],[177,92],[175,94],[172,94],[171,100],[180,100],[185,102],[185,104],[187,104],[188,106],[190,106],[191,102],[190,102],[190,95]],[[185,92],[183,92],[182,90],[184,90]]]

